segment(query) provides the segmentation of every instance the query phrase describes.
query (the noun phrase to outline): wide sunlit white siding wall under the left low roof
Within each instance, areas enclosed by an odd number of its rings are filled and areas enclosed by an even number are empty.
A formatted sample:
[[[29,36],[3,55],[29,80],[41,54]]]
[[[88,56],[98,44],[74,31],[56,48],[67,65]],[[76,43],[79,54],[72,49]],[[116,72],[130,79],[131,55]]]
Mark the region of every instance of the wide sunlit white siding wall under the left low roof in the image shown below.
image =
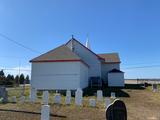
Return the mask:
[[[32,63],[31,81],[36,89],[80,88],[81,62]],[[86,66],[85,66],[86,67]],[[84,76],[84,75],[83,75]],[[83,77],[82,80],[85,80]],[[83,85],[82,85],[83,86]],[[84,85],[85,86],[85,85]]]

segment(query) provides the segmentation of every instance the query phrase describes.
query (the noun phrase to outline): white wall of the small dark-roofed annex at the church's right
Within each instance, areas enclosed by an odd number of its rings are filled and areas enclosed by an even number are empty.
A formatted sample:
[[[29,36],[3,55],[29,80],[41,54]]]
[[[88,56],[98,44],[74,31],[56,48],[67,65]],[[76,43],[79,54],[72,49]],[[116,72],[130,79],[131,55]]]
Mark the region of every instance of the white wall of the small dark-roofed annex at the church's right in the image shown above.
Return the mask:
[[[124,87],[124,73],[108,73],[109,87]]]

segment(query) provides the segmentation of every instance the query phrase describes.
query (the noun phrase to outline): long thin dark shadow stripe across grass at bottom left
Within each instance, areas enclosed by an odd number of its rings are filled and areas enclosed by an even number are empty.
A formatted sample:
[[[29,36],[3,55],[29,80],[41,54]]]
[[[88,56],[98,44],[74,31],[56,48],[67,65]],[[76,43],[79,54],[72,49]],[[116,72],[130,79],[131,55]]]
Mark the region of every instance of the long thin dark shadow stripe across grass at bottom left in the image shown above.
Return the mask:
[[[17,112],[17,113],[26,113],[26,114],[41,115],[40,112],[29,112],[29,111],[21,111],[21,110],[0,109],[0,111],[3,111],[3,112]],[[55,114],[50,114],[50,116],[51,116],[51,117],[67,118],[66,116],[55,115]]]

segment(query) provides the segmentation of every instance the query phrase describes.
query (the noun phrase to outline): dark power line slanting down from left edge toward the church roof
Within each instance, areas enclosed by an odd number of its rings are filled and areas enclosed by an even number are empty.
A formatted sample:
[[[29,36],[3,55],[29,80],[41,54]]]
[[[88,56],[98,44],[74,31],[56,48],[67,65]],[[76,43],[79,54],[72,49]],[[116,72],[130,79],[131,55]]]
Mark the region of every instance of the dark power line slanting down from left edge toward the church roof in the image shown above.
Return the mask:
[[[38,53],[38,54],[40,53],[39,51],[36,51],[36,50],[34,50],[34,49],[30,48],[30,47],[27,47],[27,46],[25,46],[25,45],[23,45],[23,44],[15,41],[15,40],[11,39],[10,37],[8,37],[8,36],[6,36],[6,35],[4,35],[4,34],[2,34],[2,33],[0,33],[0,36],[3,37],[3,38],[5,38],[5,39],[7,39],[7,40],[9,40],[9,41],[11,41],[11,42],[13,42],[14,44],[16,44],[16,45],[18,45],[18,46],[21,46],[21,47],[29,50],[29,51],[32,51],[32,52]]]

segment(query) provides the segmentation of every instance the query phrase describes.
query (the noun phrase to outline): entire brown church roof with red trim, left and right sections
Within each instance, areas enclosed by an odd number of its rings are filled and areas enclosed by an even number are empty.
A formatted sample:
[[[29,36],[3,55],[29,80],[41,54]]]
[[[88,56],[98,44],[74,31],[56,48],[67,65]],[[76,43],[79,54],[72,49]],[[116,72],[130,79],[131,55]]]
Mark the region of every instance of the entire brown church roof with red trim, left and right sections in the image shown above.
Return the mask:
[[[102,63],[104,64],[111,64],[111,63],[120,63],[119,55],[118,53],[104,53],[104,54],[96,54],[87,47],[85,47],[83,44],[81,44],[78,40],[72,38],[71,40],[76,41],[79,43],[82,47],[87,49],[89,52],[91,52],[93,55],[95,55]],[[76,53],[74,53],[67,44],[71,41],[69,40],[66,44],[59,46],[49,52],[46,52],[32,60],[30,62],[75,62],[80,61],[86,66],[89,67],[88,64],[86,64]]]

